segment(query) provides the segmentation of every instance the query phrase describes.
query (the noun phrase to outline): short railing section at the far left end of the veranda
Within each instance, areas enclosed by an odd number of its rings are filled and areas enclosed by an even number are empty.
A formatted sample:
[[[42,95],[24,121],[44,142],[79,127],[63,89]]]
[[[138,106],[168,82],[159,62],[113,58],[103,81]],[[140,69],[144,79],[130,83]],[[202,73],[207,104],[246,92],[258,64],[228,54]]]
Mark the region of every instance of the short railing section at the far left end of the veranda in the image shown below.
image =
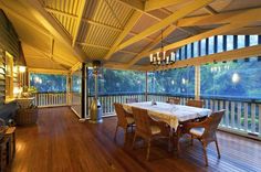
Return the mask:
[[[66,106],[66,93],[36,93],[34,94],[34,105],[38,107]]]

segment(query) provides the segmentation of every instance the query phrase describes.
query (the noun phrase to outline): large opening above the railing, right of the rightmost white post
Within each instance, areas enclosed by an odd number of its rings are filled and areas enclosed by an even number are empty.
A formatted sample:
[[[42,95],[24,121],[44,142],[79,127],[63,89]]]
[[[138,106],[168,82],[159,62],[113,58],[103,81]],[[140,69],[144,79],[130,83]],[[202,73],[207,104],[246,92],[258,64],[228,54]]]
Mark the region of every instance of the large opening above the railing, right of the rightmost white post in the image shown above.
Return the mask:
[[[201,66],[201,95],[261,98],[261,62],[252,57]]]

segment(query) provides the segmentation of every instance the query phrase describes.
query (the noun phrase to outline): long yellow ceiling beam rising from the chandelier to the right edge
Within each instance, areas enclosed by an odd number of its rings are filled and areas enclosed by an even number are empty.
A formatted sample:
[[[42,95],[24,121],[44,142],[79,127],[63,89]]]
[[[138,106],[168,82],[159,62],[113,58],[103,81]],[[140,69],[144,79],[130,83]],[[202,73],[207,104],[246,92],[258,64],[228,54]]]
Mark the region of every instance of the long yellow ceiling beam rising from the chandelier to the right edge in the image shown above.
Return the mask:
[[[233,23],[219,26],[217,29],[197,34],[195,36],[190,36],[190,37],[181,40],[179,42],[175,42],[173,44],[165,46],[164,49],[165,49],[165,51],[177,49],[177,47],[184,46],[186,44],[192,43],[195,41],[207,39],[212,35],[223,34],[226,32],[247,26],[247,25],[251,24],[252,22],[260,21],[261,20],[260,13],[261,13],[261,9],[246,11],[243,13],[236,15],[236,17],[232,17]],[[154,50],[154,51],[149,52],[148,54],[156,53],[158,51],[159,51],[159,49]]]

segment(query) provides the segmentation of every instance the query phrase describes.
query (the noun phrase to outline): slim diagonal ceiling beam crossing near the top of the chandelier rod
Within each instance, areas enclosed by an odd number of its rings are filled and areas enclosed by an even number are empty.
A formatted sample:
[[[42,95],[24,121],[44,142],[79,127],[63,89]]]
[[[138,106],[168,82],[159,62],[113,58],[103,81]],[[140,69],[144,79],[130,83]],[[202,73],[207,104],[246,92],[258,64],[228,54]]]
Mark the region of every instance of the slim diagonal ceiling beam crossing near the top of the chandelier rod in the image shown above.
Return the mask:
[[[174,25],[169,25],[164,32],[163,32],[163,36],[167,37],[170,33],[173,33],[177,28]],[[147,54],[154,46],[156,46],[158,43],[160,43],[161,41],[161,34],[155,39],[154,42],[152,42],[150,44],[148,44],[148,46],[146,46],[140,53],[138,53],[132,61],[128,62],[128,64],[126,65],[126,67],[130,67],[132,65],[134,65],[135,63],[137,63],[140,58],[144,57],[145,54]]]

